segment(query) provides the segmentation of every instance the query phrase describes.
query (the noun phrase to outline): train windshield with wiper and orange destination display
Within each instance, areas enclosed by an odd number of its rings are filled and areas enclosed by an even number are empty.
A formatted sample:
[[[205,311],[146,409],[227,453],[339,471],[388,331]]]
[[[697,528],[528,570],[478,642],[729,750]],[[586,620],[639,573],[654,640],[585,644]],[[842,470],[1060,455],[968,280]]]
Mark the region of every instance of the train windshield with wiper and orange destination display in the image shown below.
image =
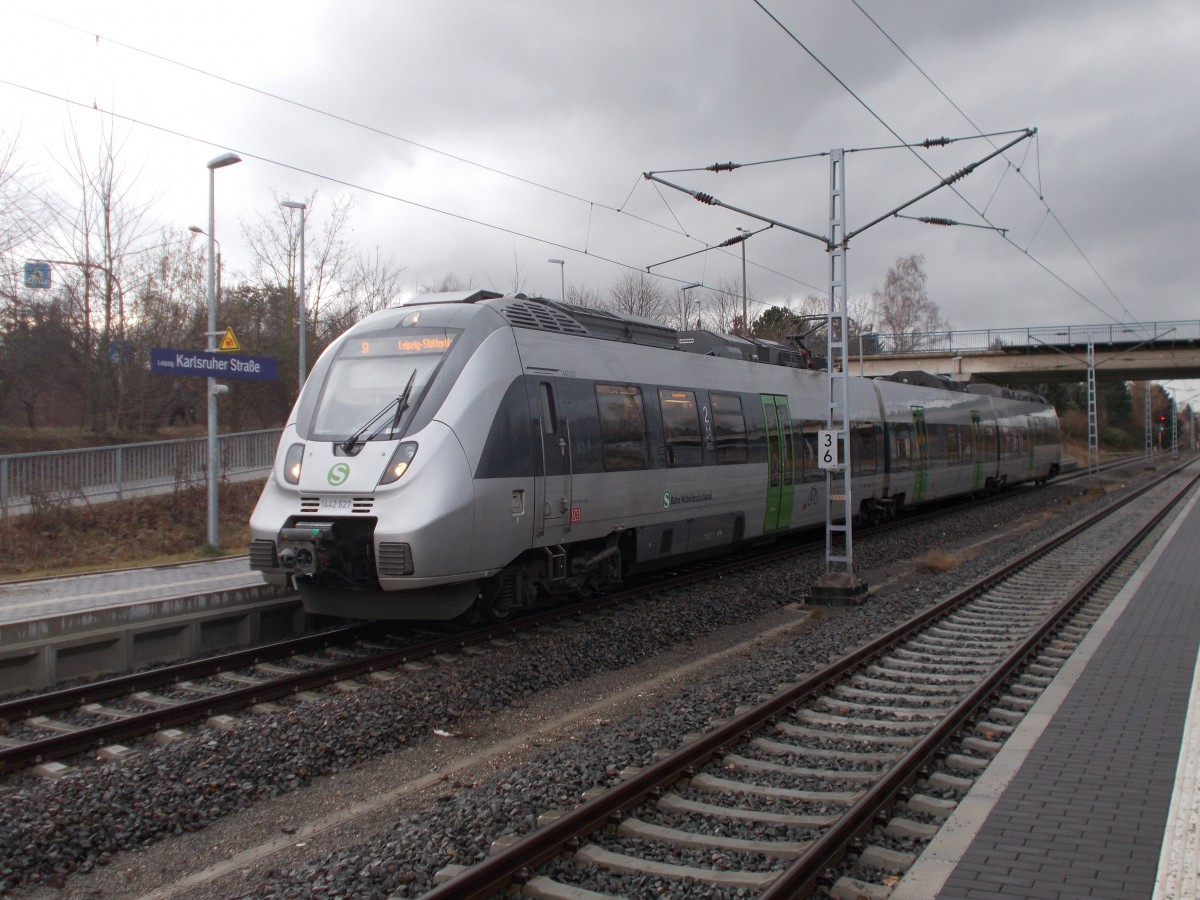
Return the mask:
[[[445,329],[406,329],[401,335],[347,341],[329,367],[308,437],[346,440],[384,407],[395,410],[395,401],[412,380],[395,424],[408,421],[457,336],[457,331]],[[398,428],[386,427],[391,424],[372,427],[362,437],[389,440],[398,433]]]

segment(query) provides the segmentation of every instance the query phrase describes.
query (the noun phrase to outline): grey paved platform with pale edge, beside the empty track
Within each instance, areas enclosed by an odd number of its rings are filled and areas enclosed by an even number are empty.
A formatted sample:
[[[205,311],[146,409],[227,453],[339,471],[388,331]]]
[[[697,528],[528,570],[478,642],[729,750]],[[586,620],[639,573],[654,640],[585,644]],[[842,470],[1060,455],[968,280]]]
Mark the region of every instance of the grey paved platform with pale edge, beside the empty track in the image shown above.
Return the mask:
[[[1200,896],[1198,497],[889,900]]]

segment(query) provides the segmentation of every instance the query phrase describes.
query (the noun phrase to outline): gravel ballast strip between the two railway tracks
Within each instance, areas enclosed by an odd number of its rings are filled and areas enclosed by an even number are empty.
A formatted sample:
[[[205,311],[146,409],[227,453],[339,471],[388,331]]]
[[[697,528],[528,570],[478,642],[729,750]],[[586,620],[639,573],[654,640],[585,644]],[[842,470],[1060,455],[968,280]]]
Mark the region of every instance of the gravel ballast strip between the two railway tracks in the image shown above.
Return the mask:
[[[823,571],[820,553],[809,554],[386,684],[247,714],[229,731],[199,728],[121,763],[11,779],[0,786],[0,895],[419,896],[443,866],[482,859],[496,839],[527,833],[539,815],[570,809],[626,767],[646,766],[1060,530],[1093,505],[1102,484],[1116,486],[1103,476],[1051,484],[859,536],[857,571],[872,588],[886,584],[859,607],[794,606]],[[934,547],[956,551],[958,563],[917,570],[913,560]],[[756,640],[768,626],[773,636]],[[672,677],[710,654],[707,667]],[[574,720],[572,709],[582,709]],[[392,800],[402,784],[414,786]],[[341,821],[355,804],[370,811]],[[323,816],[338,822],[306,833]],[[180,881],[264,844],[274,852],[220,880]],[[572,877],[570,863],[557,865]],[[684,887],[616,875],[607,888],[592,883],[629,896],[690,895]],[[695,895],[744,894],[697,887]]]

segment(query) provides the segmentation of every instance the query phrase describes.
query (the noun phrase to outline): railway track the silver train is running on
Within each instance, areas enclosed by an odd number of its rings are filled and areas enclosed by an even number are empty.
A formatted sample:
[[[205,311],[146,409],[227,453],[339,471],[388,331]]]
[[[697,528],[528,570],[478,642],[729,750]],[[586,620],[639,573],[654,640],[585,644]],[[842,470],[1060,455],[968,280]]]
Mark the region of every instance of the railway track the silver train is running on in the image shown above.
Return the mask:
[[[1032,488],[1028,488],[1032,490]],[[989,498],[1002,502],[1003,494]],[[876,526],[872,533],[908,528],[942,515],[925,510]],[[397,635],[372,623],[305,635],[268,646],[208,656],[143,672],[74,685],[46,694],[0,701],[0,775],[34,766],[50,766],[71,757],[97,754],[120,758],[139,739],[172,740],[180,730],[208,722],[222,727],[230,714],[270,710],[272,704],[305,700],[320,690],[355,690],[360,679],[388,678],[389,670],[439,654],[463,652],[506,640],[515,634],[553,624],[619,604],[644,601],[648,593],[667,590],[750,565],[766,565],[820,546],[820,540],[749,547],[719,560],[697,560],[659,572],[629,589],[554,607],[486,628]]]

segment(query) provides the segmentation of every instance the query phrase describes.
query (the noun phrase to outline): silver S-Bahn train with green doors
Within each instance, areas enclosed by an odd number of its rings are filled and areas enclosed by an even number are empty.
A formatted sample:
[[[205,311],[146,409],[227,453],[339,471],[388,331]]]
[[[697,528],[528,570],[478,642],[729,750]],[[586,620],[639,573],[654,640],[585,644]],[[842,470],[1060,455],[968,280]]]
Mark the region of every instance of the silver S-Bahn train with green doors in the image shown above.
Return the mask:
[[[251,517],[310,612],[492,618],[824,521],[829,385],[780,343],[523,295],[432,294],[322,354]],[[850,379],[856,511],[1058,472],[1042,397]]]

